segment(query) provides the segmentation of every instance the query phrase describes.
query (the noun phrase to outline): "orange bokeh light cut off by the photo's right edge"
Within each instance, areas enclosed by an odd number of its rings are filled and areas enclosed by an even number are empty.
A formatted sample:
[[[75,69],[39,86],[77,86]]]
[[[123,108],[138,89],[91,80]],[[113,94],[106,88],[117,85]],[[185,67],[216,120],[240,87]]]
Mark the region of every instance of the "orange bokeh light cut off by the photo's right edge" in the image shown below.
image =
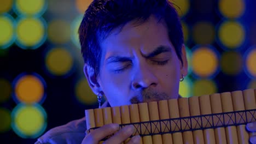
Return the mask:
[[[256,46],[251,47],[245,54],[245,71],[249,77],[256,79]]]

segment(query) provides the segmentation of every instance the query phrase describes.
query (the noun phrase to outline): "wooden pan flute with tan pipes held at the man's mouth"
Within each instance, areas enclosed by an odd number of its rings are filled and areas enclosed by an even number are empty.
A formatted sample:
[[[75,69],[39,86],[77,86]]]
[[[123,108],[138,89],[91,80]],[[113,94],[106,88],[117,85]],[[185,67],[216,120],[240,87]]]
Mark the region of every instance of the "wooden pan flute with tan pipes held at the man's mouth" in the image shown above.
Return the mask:
[[[134,125],[132,136],[141,135],[141,143],[249,143],[255,97],[256,89],[246,89],[85,110],[87,133],[118,123],[120,129]]]

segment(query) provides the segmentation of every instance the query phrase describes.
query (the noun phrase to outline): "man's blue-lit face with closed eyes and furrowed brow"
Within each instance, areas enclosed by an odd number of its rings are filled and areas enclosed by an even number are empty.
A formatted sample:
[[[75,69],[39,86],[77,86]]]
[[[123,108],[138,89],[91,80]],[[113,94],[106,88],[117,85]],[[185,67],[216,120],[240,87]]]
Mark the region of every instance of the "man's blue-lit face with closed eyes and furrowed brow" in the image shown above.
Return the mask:
[[[114,29],[101,48],[97,82],[111,106],[178,98],[179,79],[187,74],[185,51],[182,67],[166,27],[154,17]]]

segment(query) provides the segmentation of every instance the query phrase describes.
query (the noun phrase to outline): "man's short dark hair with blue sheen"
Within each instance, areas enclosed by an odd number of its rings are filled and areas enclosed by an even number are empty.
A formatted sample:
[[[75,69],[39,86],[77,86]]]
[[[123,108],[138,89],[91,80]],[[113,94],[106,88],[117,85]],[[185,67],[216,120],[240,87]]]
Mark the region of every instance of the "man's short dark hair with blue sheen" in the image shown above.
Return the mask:
[[[114,28],[122,28],[127,22],[138,24],[150,16],[164,20],[168,37],[182,61],[183,32],[176,9],[168,0],[94,0],[85,11],[79,27],[79,40],[84,62],[100,71],[100,43]]]

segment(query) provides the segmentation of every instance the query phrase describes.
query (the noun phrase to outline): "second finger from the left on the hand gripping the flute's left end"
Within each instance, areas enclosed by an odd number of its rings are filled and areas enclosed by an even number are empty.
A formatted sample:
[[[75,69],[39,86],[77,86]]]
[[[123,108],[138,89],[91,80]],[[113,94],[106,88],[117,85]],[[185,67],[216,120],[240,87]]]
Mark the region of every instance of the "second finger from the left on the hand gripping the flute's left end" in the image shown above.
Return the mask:
[[[105,143],[121,143],[128,139],[135,130],[133,125],[127,125],[121,130],[119,130],[116,134],[114,134],[112,137],[110,137]]]

